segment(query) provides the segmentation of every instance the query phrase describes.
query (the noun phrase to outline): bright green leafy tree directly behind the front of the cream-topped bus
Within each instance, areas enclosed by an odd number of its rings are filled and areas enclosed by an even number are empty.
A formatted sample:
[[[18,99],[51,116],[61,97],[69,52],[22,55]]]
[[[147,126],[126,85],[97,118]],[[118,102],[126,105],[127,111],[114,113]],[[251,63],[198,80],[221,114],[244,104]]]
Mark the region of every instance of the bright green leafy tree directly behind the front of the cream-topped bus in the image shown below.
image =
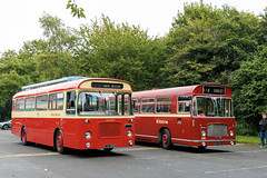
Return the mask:
[[[77,61],[82,76],[130,81],[135,90],[158,83],[162,40],[149,38],[140,27],[115,24],[108,17],[80,29]]]

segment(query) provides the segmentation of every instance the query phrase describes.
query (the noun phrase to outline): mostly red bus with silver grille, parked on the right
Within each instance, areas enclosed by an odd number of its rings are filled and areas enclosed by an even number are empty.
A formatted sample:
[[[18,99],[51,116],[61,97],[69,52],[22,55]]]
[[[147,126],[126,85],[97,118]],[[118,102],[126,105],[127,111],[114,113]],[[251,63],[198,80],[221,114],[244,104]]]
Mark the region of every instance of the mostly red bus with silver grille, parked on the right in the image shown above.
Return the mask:
[[[231,89],[199,85],[132,93],[136,140],[198,146],[235,145]]]

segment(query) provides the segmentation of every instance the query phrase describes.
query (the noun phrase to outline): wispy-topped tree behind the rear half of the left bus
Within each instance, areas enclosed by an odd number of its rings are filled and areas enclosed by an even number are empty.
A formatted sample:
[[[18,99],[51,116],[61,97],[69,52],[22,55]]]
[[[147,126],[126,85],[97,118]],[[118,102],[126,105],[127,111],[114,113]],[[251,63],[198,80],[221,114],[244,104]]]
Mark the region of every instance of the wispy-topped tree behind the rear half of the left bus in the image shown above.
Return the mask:
[[[31,66],[31,81],[40,82],[75,75],[73,52],[78,37],[61,19],[44,13],[39,22],[44,39],[24,42],[18,58]]]

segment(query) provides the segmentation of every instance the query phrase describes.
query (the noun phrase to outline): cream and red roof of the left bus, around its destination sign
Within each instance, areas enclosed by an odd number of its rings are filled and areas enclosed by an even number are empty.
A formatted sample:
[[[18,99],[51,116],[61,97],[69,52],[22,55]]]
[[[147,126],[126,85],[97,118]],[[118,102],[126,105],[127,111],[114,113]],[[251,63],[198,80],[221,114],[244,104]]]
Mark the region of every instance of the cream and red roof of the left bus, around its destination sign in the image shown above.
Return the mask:
[[[57,81],[57,80],[52,80]],[[103,83],[103,85],[116,85],[116,83],[123,83],[122,88],[116,88],[112,86],[109,87],[91,87],[92,82],[96,83]],[[48,81],[49,82],[49,81]],[[46,83],[46,82],[43,82]],[[90,85],[90,86],[89,86]],[[33,86],[33,85],[32,85]],[[118,90],[118,91],[131,91],[132,87],[128,81],[119,80],[119,79],[109,79],[109,78],[80,78],[80,79],[75,79],[70,81],[63,81],[63,82],[56,82],[50,86],[44,86],[44,87],[39,87],[39,88],[33,88],[33,89],[27,89],[23,91],[20,91],[13,96],[13,99],[16,98],[21,98],[21,97],[30,97],[30,96],[36,96],[36,95],[43,95],[43,93],[49,93],[49,92],[59,92],[59,91],[66,91],[66,90],[72,90],[72,89],[91,89],[93,88],[95,90]]]

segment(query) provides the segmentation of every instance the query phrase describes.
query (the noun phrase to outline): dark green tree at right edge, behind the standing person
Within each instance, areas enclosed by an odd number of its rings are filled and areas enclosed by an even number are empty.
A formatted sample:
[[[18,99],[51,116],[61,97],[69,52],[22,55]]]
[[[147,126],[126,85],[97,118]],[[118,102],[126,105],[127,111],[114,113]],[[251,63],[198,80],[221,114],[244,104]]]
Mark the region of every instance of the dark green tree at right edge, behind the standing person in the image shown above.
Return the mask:
[[[267,112],[267,47],[260,47],[251,58],[243,61],[230,79],[241,135],[257,135],[260,115]]]

